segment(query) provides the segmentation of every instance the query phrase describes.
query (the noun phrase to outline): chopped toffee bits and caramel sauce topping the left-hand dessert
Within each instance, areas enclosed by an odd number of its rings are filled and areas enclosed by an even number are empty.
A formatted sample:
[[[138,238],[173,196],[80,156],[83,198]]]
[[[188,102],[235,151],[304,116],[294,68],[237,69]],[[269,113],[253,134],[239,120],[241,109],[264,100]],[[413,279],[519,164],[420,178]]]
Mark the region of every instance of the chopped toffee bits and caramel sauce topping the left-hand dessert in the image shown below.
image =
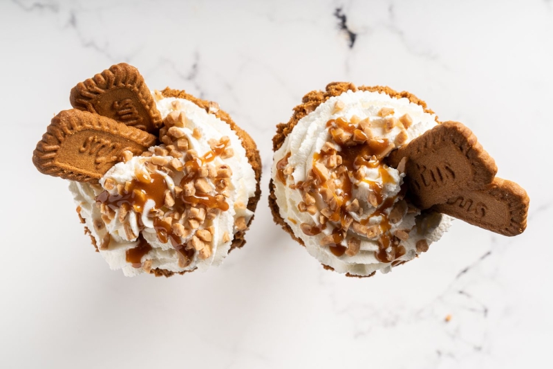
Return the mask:
[[[200,260],[212,255],[211,244],[216,242],[212,221],[219,212],[229,209],[225,195],[228,196],[232,170],[228,165],[215,166],[212,162],[217,157],[225,159],[234,155],[229,147],[230,139],[224,136],[218,141],[210,140],[211,150],[198,156],[196,150],[189,150],[188,140],[179,129],[186,125],[184,114],[174,111],[165,118],[164,123],[165,127],[160,129],[160,141],[165,143],[165,148],[155,147],[153,153],[149,152],[150,155],[142,155],[146,156],[141,159],[144,168],[135,172],[136,179],[124,184],[106,179],[106,190],[96,197],[96,204],[106,224],[117,214],[126,238],[133,240],[138,237],[138,245],[126,251],[126,261],[144,271],[151,270],[151,260],[142,262],[142,258],[152,249],[142,235],[144,224],[140,215],[145,210],[147,217],[153,221],[158,240],[171,242],[177,251],[178,265],[184,268],[191,264],[196,253]],[[200,136],[198,129],[194,130],[194,136]],[[183,150],[184,154],[175,147]],[[125,156],[124,159],[129,161],[132,156]],[[173,171],[182,172],[182,179],[171,190],[165,176]],[[115,188],[117,191],[111,194],[110,190]],[[138,235],[135,235],[129,221],[130,210],[138,215]],[[105,227],[102,219],[95,222],[95,228]],[[243,230],[246,224],[244,217],[236,219],[236,229]],[[225,233],[223,242],[229,240],[228,233]],[[104,237],[100,249],[108,249],[109,242],[110,238]]]

